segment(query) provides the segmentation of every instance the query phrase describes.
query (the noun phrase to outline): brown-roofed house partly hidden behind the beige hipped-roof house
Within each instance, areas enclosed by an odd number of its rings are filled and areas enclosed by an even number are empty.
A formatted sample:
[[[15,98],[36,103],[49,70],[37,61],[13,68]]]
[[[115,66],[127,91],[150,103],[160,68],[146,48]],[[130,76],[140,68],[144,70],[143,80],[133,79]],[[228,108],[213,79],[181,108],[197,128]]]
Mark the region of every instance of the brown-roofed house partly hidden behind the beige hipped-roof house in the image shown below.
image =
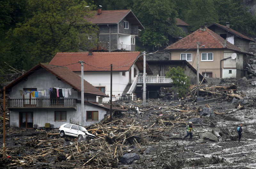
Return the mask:
[[[244,52],[250,52],[249,43],[255,42],[255,40],[231,29],[229,26],[229,22],[226,22],[226,26],[213,23],[207,27],[213,32],[220,35],[223,39],[226,39],[231,44],[239,47]]]

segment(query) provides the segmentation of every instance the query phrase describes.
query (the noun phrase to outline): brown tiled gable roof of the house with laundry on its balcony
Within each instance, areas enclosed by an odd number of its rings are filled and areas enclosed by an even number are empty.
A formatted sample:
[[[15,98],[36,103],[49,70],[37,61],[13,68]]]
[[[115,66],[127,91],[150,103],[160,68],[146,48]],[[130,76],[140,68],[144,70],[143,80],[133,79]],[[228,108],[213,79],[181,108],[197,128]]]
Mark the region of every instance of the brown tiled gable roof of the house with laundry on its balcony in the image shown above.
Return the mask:
[[[45,70],[47,70],[48,72],[52,73],[56,77],[58,77],[60,80],[68,83],[70,86],[72,86],[77,91],[81,92],[81,77],[80,76],[78,76],[76,73],[69,70],[67,67],[57,67],[55,65],[48,65],[48,64],[43,64],[43,63],[40,63],[40,64],[36,65],[35,67],[31,68],[28,72],[21,75],[18,79],[16,79],[15,81],[13,81],[9,85],[7,85],[6,88],[10,88],[10,87],[16,85],[23,79],[23,77],[26,77],[26,76],[34,73],[41,67],[44,68]],[[94,86],[92,86],[92,84],[90,84],[89,82],[87,82],[85,80],[84,80],[84,93],[107,97],[107,95],[102,93],[99,89],[95,88]]]

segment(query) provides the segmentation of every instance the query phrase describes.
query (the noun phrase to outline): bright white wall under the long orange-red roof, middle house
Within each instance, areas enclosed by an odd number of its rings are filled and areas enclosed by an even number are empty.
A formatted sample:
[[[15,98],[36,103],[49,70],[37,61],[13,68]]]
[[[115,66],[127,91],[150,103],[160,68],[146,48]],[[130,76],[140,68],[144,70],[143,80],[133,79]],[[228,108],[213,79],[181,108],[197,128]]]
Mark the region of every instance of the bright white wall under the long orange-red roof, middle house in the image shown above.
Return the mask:
[[[131,82],[134,81],[134,68],[137,70],[137,75],[139,74],[138,67],[133,64],[131,68]],[[81,72],[75,72],[81,76]],[[84,79],[91,83],[95,87],[105,87],[105,94],[110,95],[110,72],[84,72]],[[122,72],[112,72],[112,95],[122,94],[125,87],[129,83],[129,72],[125,72],[125,76]]]

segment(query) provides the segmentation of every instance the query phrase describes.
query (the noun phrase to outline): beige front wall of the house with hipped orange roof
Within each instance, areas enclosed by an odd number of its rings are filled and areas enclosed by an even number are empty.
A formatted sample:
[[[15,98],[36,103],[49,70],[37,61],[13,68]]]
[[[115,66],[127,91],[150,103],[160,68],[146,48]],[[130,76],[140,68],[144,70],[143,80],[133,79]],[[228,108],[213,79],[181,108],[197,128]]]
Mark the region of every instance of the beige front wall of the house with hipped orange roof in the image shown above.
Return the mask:
[[[184,51],[185,50],[170,50],[171,60],[180,60],[180,53],[192,53],[192,61],[189,61],[189,63],[197,69],[196,49]],[[201,61],[202,53],[213,53],[213,61]],[[223,58],[223,49],[199,49],[199,73],[212,72],[212,77],[220,78],[220,60]]]

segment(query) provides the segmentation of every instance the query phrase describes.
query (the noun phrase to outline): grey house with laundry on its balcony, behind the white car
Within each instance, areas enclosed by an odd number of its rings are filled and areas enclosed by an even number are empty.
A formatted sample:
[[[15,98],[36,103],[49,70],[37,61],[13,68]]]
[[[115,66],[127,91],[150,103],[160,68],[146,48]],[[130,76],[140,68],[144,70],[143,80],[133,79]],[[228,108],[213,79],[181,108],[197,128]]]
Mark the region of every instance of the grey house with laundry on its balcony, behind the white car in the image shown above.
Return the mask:
[[[83,113],[81,92],[84,93]],[[96,96],[107,95],[85,80],[82,89],[81,77],[67,67],[38,64],[7,85],[6,93],[13,127],[40,128],[45,123],[53,128],[64,123],[88,126],[110,113],[109,106],[96,102]]]

